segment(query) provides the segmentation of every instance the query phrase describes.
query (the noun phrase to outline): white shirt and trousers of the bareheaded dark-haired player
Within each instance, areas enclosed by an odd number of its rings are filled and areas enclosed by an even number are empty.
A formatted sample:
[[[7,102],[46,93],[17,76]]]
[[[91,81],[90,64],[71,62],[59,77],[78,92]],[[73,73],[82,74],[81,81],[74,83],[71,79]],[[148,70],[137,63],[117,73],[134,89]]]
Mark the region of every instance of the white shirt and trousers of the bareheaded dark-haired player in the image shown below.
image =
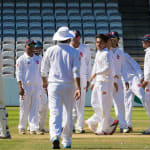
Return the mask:
[[[97,75],[92,91],[91,104],[101,124],[101,129],[98,127],[99,131],[107,132],[111,125],[110,110],[112,108],[113,89],[111,56],[107,49],[99,51],[96,54],[93,70],[96,71]],[[92,71],[92,74],[95,71]]]

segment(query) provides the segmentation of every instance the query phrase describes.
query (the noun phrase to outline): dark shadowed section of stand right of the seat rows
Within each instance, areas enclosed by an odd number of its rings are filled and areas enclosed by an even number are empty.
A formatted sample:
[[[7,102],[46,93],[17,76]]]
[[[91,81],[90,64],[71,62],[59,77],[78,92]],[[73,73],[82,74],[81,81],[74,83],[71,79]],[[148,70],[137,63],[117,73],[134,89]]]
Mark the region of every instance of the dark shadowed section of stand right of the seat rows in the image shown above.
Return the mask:
[[[150,16],[148,0],[119,0],[122,15],[124,49],[143,67],[144,51],[141,39],[149,33]]]

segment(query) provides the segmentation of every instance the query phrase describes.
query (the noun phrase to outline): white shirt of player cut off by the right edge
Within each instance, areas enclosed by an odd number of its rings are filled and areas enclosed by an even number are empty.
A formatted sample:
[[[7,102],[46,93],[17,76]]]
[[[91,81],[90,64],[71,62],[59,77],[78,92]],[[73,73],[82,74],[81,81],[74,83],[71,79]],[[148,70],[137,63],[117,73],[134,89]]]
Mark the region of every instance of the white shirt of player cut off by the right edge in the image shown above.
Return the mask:
[[[144,80],[150,82],[150,47],[145,49]]]

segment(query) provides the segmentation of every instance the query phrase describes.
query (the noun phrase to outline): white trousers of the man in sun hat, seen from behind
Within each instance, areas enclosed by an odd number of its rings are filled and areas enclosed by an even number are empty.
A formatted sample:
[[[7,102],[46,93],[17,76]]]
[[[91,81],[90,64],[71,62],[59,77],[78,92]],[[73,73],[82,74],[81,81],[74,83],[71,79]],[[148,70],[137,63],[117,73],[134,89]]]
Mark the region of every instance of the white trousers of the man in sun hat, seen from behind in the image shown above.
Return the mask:
[[[50,109],[49,128],[51,140],[53,140],[55,136],[61,136],[62,108],[64,108],[64,111],[66,112],[65,119],[63,121],[63,145],[72,143],[72,109],[74,103],[73,96],[74,84],[49,83],[48,85],[48,99]]]

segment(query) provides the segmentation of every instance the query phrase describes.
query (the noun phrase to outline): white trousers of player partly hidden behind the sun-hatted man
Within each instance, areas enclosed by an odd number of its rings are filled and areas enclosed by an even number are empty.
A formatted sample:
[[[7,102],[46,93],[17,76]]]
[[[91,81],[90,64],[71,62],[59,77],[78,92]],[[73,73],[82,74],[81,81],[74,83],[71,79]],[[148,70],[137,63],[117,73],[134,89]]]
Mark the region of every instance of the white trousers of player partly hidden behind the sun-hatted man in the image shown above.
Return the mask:
[[[73,121],[76,121],[76,129],[83,129],[84,127],[84,105],[85,105],[85,96],[86,96],[86,90],[85,87],[87,85],[87,79],[81,78],[80,79],[80,85],[81,85],[81,98],[78,101],[74,102],[73,107]]]

